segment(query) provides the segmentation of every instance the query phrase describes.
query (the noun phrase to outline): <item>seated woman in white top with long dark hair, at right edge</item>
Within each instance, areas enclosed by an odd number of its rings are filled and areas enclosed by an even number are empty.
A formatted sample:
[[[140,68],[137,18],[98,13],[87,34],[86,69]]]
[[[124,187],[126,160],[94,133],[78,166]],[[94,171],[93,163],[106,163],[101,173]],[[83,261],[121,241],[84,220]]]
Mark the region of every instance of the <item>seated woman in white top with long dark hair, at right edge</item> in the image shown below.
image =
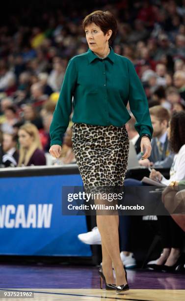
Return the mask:
[[[150,178],[158,180],[165,185],[174,186],[179,181],[185,180],[185,112],[174,111],[168,128],[168,139],[171,150],[175,153],[170,169],[170,179],[166,180],[155,169],[150,173]],[[175,211],[178,200],[169,204],[166,187],[162,194],[162,201],[169,211]],[[176,193],[175,193],[176,194]],[[168,204],[167,204],[168,203]],[[176,204],[175,204],[176,203]],[[182,243],[185,237],[183,230],[174,222],[171,216],[158,216],[162,237],[163,251],[159,259],[150,262],[148,267],[154,270],[173,271],[181,261]]]

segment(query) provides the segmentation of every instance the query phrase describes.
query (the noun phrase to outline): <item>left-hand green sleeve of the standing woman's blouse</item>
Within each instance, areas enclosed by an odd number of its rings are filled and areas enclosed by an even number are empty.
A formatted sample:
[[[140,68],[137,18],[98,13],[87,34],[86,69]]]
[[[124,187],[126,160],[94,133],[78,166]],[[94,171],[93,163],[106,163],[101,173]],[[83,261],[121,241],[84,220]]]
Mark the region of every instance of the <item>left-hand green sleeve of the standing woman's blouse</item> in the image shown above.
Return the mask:
[[[61,145],[62,136],[69,125],[69,117],[72,112],[72,97],[77,83],[77,70],[74,58],[69,60],[64,80],[56,104],[53,120],[50,126],[51,146]]]

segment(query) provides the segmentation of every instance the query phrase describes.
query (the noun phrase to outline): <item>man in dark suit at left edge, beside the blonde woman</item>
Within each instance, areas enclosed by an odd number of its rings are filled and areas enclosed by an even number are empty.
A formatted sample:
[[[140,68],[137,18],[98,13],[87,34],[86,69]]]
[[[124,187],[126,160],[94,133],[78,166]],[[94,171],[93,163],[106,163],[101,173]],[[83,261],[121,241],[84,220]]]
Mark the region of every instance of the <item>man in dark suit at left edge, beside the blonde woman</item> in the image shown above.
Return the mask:
[[[3,133],[2,141],[2,164],[4,167],[17,166],[19,153],[17,150],[17,136],[13,134]]]

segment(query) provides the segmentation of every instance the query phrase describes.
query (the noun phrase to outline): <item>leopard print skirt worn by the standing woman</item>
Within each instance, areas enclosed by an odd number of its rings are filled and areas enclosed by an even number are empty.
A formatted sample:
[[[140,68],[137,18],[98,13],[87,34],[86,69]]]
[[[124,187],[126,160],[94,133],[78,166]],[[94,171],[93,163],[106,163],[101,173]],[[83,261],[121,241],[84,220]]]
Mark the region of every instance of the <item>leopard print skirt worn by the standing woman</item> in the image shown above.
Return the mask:
[[[125,125],[74,123],[72,142],[84,188],[123,186],[129,154]]]

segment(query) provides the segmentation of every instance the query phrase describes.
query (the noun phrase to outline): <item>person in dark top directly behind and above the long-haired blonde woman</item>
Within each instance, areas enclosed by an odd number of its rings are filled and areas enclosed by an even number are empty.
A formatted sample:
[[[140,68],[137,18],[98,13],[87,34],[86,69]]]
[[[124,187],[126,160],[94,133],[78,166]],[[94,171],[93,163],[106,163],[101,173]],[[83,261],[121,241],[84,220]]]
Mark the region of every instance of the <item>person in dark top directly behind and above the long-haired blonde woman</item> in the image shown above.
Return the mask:
[[[23,105],[22,108],[24,123],[29,122],[36,125],[38,129],[43,128],[42,119],[31,104]]]

